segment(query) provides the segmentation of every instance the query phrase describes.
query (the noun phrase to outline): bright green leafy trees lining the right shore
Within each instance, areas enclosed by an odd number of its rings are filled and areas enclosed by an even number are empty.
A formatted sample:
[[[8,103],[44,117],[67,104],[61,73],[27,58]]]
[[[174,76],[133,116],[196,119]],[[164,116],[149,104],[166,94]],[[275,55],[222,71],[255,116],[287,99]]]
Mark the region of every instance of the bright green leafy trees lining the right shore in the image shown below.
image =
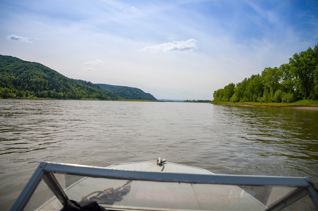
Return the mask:
[[[213,102],[288,102],[318,99],[318,44],[295,53],[289,63],[214,91]]]

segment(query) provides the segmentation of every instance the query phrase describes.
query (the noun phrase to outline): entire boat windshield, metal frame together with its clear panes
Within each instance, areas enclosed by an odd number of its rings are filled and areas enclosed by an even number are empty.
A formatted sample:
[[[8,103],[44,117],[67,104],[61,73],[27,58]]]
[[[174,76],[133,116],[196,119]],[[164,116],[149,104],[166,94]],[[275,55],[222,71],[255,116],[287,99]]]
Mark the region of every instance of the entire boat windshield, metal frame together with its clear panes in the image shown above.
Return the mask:
[[[306,178],[133,172],[58,163],[39,168],[12,210],[63,210],[67,201],[77,206],[96,201],[106,210],[318,209],[317,191]]]

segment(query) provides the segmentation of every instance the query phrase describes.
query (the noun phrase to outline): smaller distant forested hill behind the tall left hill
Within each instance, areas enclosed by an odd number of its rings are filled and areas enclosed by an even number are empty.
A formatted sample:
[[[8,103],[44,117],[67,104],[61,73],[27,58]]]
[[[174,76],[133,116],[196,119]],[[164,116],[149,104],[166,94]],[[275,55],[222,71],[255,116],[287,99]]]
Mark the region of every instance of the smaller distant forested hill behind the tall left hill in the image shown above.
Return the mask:
[[[106,85],[102,83],[97,83],[96,85],[100,87],[101,89],[112,92],[125,100],[150,100],[150,101],[157,100],[151,94],[145,93],[142,90],[137,88],[113,86],[113,85]]]

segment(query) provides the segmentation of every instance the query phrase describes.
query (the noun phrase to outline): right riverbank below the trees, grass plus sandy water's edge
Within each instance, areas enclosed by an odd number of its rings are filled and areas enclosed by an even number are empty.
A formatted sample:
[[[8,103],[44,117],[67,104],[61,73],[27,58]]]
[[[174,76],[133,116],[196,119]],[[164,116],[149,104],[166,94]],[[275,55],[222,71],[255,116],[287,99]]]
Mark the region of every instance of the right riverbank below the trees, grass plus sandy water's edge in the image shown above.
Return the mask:
[[[293,109],[306,109],[306,110],[318,110],[318,101],[301,100],[295,103],[257,103],[257,102],[244,102],[244,103],[232,103],[221,102],[212,103],[215,105],[229,105],[229,106],[251,106],[251,107],[275,107],[275,108],[293,108]]]

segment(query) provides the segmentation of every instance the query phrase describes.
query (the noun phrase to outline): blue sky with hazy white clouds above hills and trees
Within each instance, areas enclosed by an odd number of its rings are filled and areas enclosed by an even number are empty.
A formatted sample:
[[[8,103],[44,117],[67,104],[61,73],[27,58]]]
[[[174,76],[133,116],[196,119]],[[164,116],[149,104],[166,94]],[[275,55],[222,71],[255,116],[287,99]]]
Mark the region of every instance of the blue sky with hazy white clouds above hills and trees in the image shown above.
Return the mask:
[[[317,0],[0,0],[1,55],[156,99],[211,100],[317,44]]]

